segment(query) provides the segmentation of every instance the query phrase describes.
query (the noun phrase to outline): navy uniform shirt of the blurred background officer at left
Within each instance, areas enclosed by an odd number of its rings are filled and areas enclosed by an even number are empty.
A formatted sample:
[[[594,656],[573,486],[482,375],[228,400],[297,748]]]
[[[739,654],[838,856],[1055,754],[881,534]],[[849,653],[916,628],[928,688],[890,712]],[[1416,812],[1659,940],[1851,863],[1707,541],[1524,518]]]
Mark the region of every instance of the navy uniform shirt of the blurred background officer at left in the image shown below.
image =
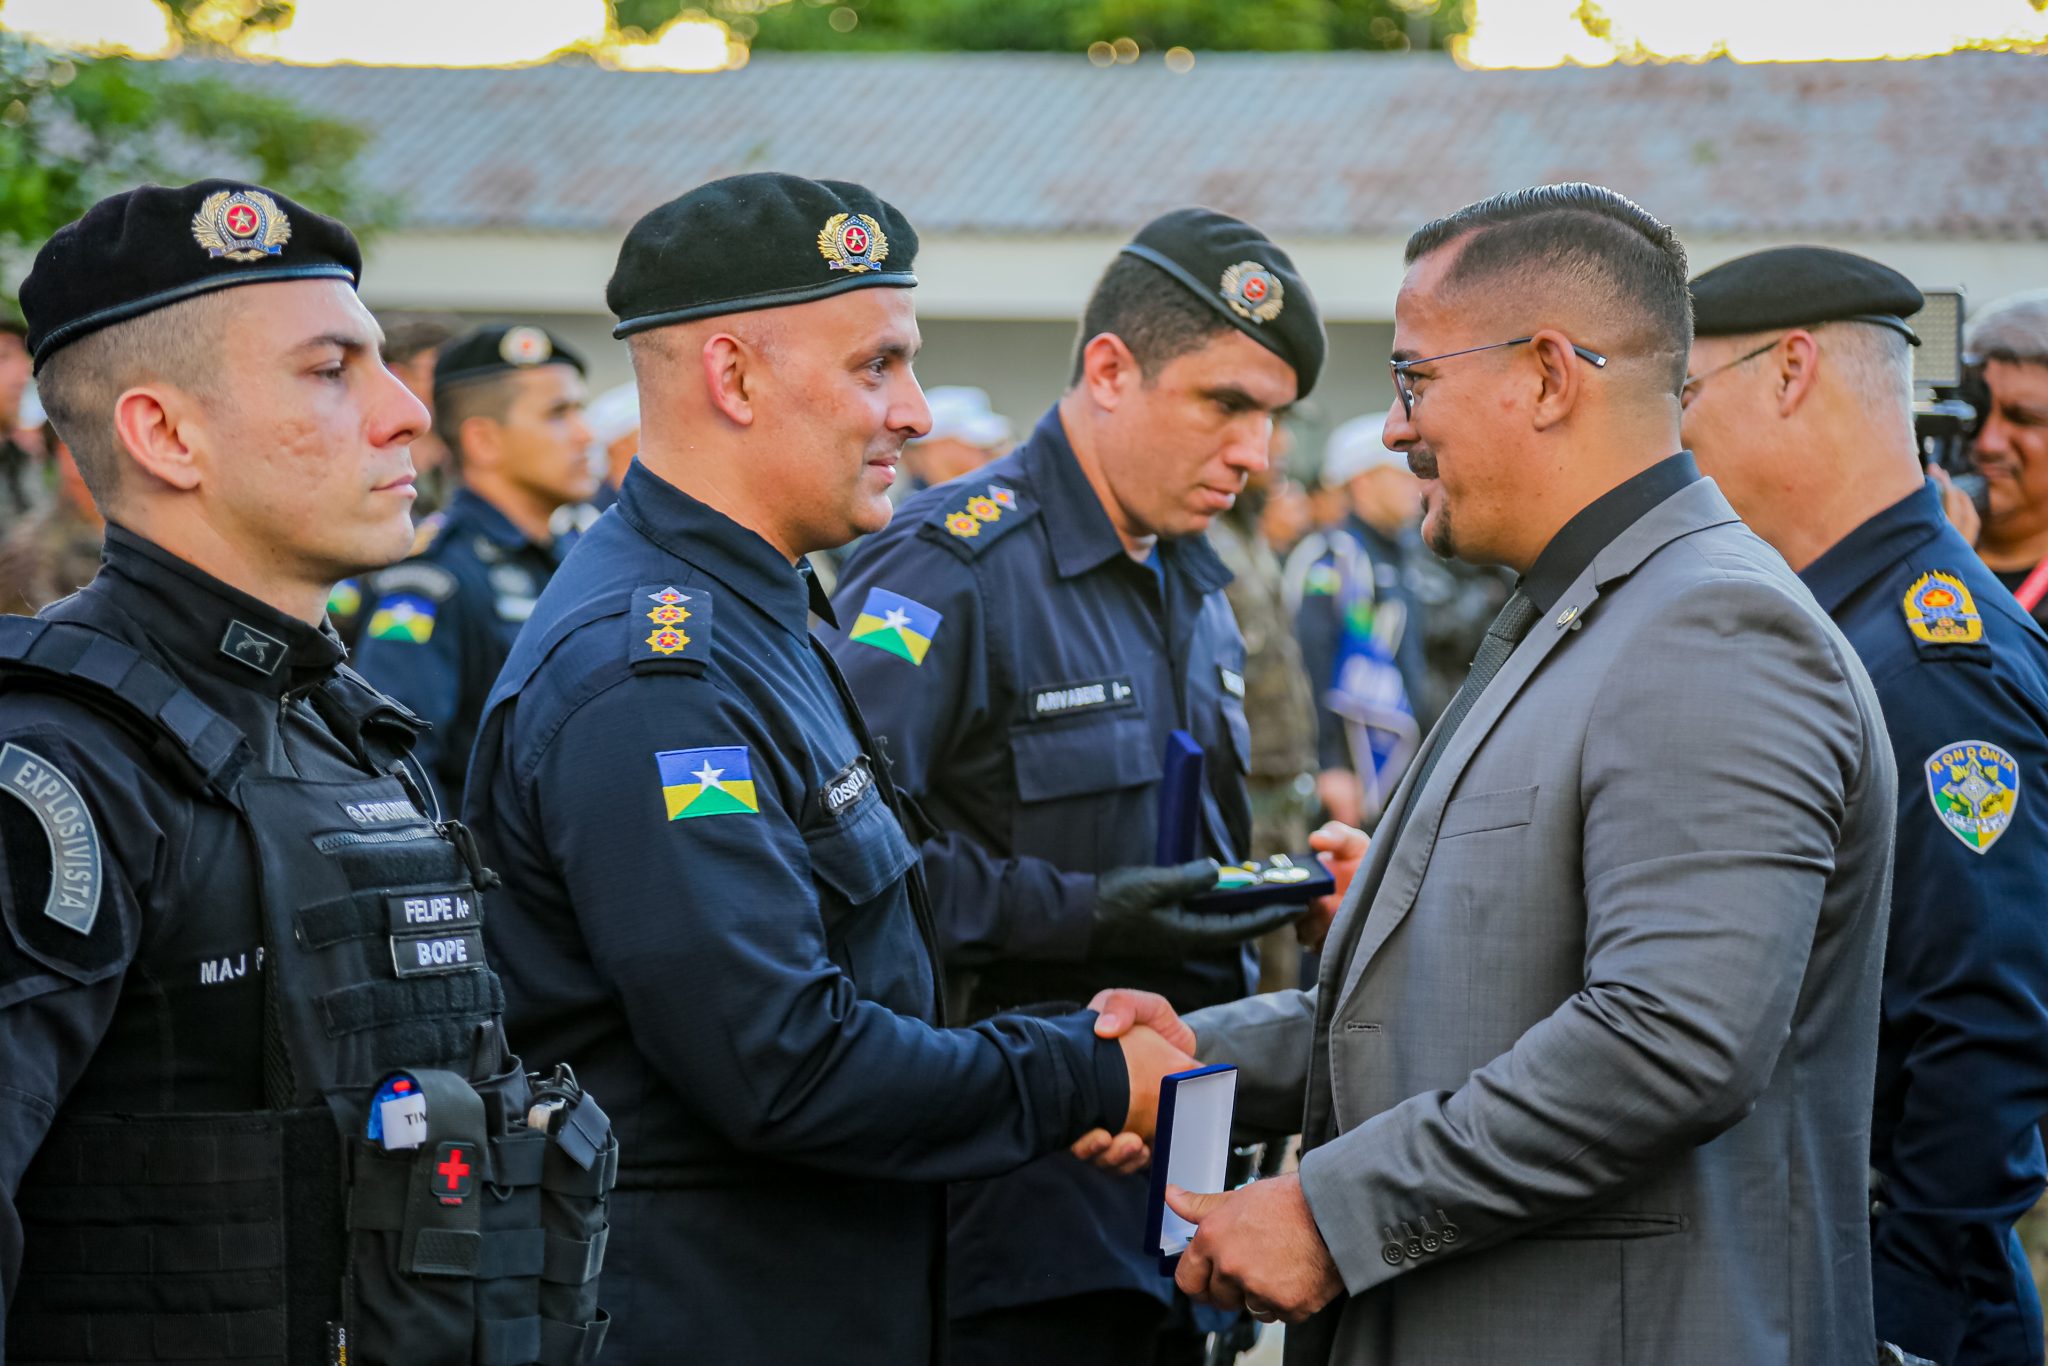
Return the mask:
[[[371,580],[354,664],[434,727],[414,756],[434,774],[446,815],[463,805],[483,698],[559,555],[557,545],[535,543],[496,506],[459,489],[432,541]]]

